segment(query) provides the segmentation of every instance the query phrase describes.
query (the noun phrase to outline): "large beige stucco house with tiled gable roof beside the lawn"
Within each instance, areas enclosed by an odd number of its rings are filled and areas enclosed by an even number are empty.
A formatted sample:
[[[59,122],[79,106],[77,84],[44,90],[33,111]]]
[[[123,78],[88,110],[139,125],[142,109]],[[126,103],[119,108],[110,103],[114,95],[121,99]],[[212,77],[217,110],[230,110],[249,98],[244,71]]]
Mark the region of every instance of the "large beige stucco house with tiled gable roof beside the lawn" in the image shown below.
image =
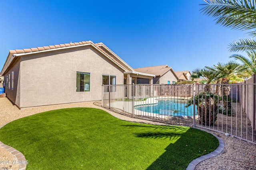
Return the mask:
[[[155,75],[131,68],[103,43],[82,41],[10,50],[0,73],[17,107],[101,100],[102,84],[132,84]]]

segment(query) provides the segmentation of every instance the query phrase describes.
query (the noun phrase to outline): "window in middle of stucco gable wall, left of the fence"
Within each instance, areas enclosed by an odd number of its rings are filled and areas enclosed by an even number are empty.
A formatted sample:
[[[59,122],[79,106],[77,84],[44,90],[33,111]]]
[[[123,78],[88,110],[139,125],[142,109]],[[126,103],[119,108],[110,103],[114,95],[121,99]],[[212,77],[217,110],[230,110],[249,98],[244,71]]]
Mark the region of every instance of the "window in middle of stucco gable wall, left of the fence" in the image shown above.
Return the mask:
[[[90,73],[76,72],[76,92],[90,92]]]

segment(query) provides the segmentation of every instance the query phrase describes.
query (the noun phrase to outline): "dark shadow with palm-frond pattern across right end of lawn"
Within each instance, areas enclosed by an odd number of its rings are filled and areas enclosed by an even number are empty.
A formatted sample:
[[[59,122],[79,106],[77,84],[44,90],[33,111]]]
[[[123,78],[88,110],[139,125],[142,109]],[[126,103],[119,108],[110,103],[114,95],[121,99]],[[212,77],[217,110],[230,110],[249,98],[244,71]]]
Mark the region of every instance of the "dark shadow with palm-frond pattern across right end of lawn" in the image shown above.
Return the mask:
[[[165,152],[148,166],[147,170],[185,170],[192,160],[208,154],[218,147],[218,139],[210,133],[198,129],[162,125],[135,126],[149,127],[149,130],[154,129],[154,131],[134,133],[136,137],[169,138],[172,141],[165,148]]]

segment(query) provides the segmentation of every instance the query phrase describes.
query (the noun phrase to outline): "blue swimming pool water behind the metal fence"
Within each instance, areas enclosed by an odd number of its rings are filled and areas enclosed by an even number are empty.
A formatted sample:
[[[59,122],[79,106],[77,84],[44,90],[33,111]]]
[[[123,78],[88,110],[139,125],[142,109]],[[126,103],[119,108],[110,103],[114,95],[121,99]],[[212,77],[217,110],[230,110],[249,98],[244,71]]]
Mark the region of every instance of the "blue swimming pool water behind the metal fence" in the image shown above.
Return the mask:
[[[193,105],[185,108],[186,100],[158,100],[157,104],[146,104],[134,106],[134,109],[172,116],[193,116]],[[197,115],[197,109],[196,109]]]

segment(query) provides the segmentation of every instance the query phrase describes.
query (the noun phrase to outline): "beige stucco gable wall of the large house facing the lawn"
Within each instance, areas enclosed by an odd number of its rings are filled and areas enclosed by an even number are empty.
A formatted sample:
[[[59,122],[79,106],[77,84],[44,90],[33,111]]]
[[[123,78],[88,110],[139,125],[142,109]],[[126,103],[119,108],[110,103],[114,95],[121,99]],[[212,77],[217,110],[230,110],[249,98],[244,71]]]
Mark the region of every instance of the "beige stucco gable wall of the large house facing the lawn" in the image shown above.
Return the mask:
[[[102,74],[124,80],[123,70],[91,46],[20,56],[18,63],[20,108],[101,100]],[[90,92],[76,92],[76,72],[90,73]]]

